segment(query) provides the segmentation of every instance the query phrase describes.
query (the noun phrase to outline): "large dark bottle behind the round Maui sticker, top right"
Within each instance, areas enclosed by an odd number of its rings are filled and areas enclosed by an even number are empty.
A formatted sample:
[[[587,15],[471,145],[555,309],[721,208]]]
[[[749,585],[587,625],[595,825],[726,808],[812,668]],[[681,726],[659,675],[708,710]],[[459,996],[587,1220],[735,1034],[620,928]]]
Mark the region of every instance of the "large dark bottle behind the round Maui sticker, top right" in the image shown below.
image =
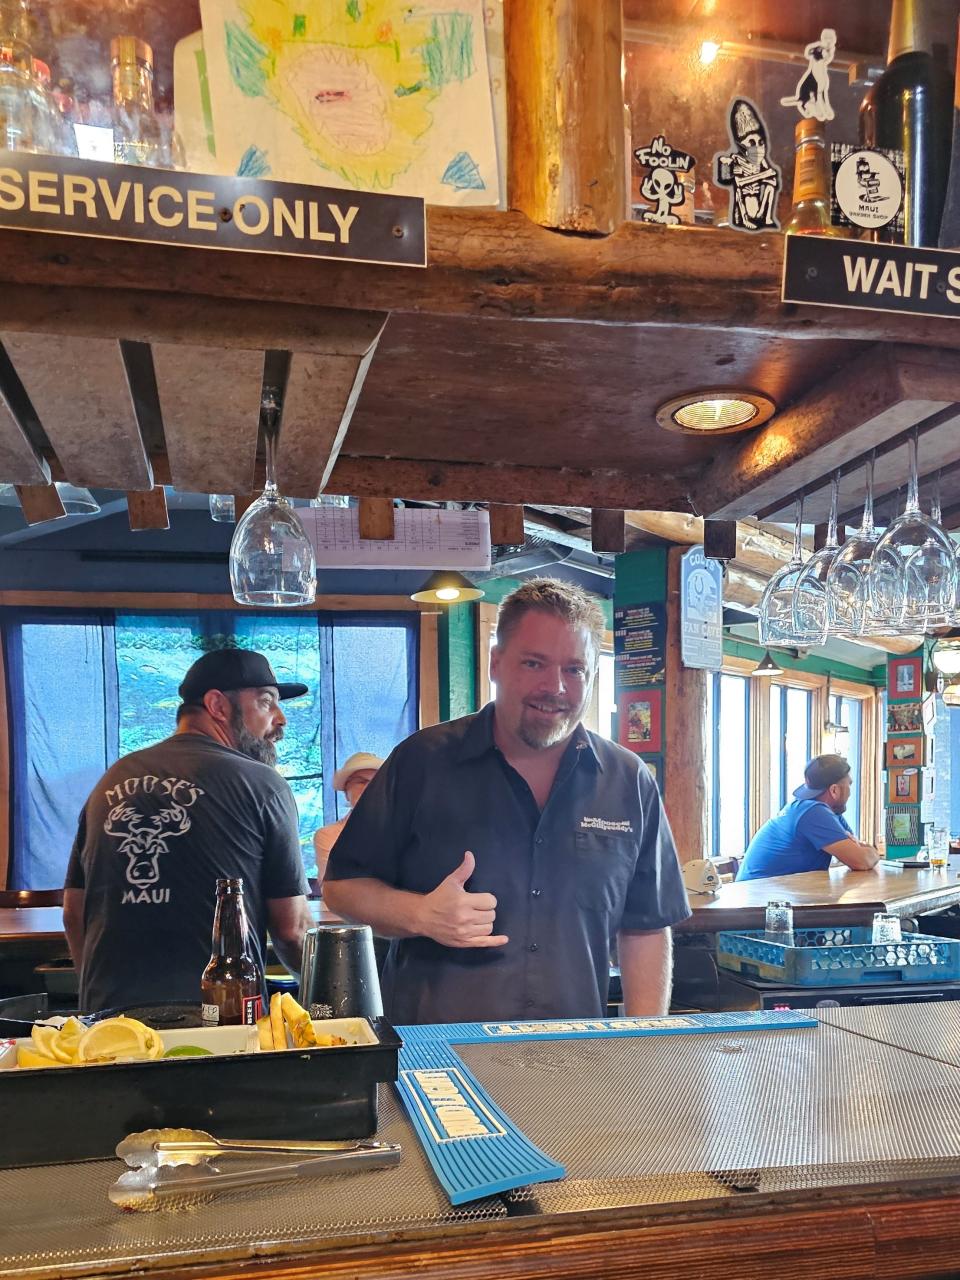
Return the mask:
[[[950,166],[952,93],[931,51],[931,8],[893,0],[887,69],[860,104],[864,146],[904,152],[904,243],[914,246],[938,242]]]

